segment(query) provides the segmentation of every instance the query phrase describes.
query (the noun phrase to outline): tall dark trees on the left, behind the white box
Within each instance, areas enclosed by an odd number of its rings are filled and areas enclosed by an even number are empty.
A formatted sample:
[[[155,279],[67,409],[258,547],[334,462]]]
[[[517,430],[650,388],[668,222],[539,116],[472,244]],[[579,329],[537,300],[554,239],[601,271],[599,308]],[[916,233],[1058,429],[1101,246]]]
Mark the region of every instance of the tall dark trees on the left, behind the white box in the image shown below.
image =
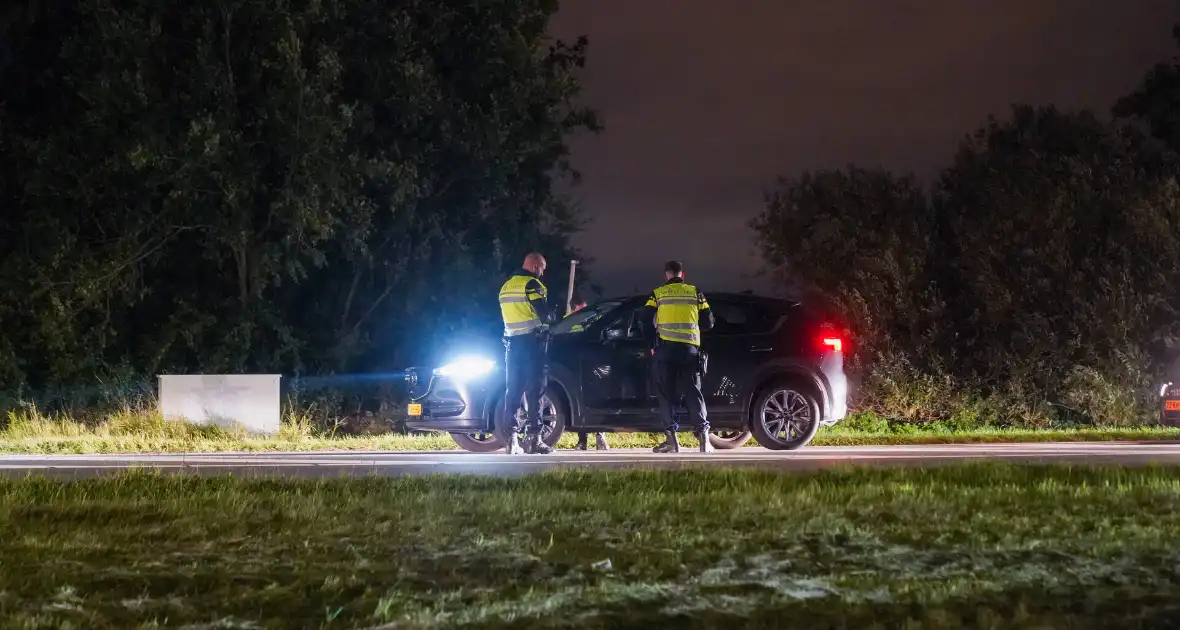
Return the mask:
[[[19,2],[0,21],[0,383],[361,372],[562,267],[585,41],[555,0]]]

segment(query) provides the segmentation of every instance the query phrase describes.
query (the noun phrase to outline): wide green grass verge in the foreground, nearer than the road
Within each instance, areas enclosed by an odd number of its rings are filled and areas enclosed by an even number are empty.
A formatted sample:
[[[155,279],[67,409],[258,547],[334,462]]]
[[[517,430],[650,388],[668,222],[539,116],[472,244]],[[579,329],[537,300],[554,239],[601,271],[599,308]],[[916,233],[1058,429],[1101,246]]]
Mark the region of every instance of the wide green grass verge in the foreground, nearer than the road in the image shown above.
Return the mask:
[[[4,628],[1148,628],[1161,468],[0,480]]]

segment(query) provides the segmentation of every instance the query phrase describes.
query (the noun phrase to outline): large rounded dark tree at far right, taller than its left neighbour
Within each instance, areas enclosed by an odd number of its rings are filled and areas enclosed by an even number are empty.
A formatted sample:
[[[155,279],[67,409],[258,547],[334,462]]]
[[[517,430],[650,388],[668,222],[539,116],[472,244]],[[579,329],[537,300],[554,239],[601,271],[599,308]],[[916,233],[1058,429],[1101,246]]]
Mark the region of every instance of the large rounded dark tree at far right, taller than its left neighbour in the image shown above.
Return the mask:
[[[949,229],[956,370],[1050,396],[1171,328],[1180,280],[1173,185],[1130,130],[1021,106],[964,140],[937,190]]]

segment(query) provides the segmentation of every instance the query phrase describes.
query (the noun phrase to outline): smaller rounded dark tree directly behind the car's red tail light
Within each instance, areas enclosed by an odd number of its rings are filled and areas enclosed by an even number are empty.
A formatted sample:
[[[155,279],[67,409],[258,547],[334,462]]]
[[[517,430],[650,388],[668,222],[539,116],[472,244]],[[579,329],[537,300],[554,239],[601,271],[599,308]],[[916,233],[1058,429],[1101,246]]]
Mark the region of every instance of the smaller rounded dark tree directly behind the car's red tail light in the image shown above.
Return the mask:
[[[858,367],[894,342],[926,335],[933,311],[916,317],[926,295],[932,216],[913,176],[848,166],[780,179],[752,222],[762,257],[782,282],[828,304],[861,341]]]

